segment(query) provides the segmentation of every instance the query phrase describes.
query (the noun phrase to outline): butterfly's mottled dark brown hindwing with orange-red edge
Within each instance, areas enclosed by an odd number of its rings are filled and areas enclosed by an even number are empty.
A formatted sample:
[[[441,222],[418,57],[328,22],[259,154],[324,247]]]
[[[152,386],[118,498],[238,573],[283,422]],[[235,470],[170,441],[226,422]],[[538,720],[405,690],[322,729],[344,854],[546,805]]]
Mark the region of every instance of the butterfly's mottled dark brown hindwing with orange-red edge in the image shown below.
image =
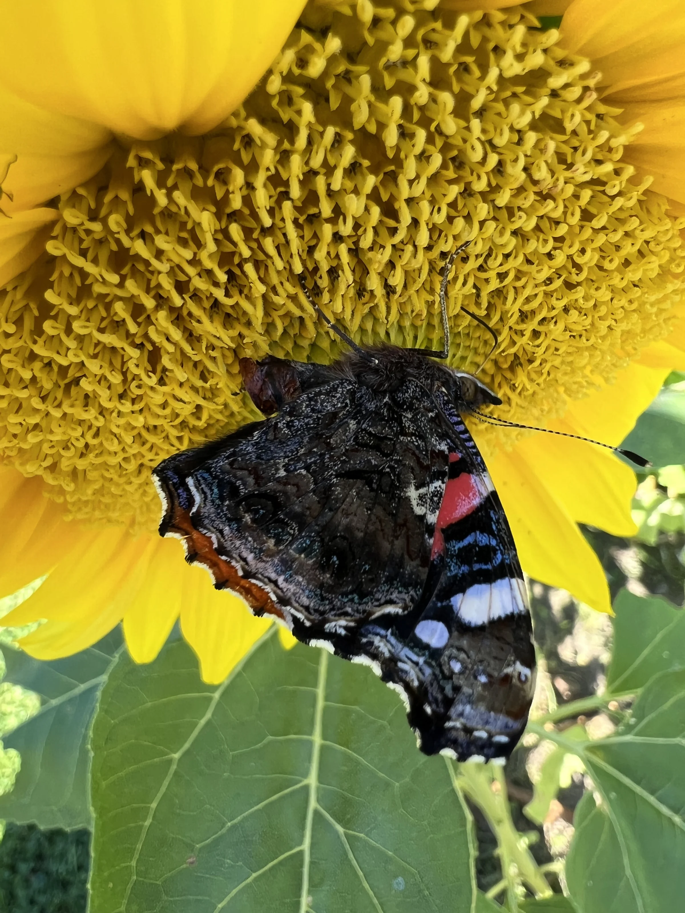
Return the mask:
[[[429,401],[416,383],[304,389],[278,415],[164,460],[160,531],[304,642],[406,612],[424,589],[448,473]]]

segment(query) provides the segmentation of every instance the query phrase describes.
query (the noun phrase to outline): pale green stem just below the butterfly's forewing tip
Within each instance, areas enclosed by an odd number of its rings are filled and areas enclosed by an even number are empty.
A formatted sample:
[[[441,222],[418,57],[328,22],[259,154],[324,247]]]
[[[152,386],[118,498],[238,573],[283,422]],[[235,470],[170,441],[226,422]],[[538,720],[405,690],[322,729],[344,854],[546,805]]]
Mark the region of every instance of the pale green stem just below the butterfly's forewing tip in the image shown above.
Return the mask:
[[[495,887],[497,893],[506,888],[511,913],[519,909],[523,883],[531,888],[535,897],[549,897],[552,888],[533,859],[526,838],[511,821],[503,768],[494,764],[467,763],[455,764],[453,771],[455,786],[478,805],[497,838],[502,881]],[[497,785],[493,789],[494,783]]]

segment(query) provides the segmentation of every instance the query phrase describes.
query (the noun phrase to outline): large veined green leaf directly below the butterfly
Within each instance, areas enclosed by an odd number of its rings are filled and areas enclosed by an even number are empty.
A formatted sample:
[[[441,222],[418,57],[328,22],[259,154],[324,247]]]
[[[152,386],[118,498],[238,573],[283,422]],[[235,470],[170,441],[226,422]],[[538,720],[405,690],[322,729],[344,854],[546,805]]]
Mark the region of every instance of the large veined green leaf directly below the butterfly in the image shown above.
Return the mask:
[[[218,687],[122,655],[93,726],[90,913],[468,913],[445,760],[362,666],[271,629]]]

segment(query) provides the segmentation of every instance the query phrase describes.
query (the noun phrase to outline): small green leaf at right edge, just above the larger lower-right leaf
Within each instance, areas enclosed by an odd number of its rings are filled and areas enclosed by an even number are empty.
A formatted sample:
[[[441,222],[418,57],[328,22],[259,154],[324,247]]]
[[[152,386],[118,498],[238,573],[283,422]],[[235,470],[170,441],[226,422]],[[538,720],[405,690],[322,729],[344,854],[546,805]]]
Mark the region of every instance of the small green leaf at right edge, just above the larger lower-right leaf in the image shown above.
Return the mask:
[[[614,603],[608,694],[635,693],[660,672],[685,666],[685,612],[659,596],[622,590]]]

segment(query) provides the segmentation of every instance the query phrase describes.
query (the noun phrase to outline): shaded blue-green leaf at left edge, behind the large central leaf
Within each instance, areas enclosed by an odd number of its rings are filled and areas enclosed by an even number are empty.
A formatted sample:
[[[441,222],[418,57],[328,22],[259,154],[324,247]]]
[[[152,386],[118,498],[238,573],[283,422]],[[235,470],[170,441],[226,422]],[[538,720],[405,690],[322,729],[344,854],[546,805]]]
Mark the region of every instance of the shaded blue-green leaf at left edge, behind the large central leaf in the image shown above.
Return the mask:
[[[21,769],[13,791],[0,797],[0,818],[42,828],[92,826],[88,735],[119,649],[118,630],[88,650],[49,662],[5,647],[6,680],[37,692],[41,707],[3,740],[5,748],[19,751]]]

